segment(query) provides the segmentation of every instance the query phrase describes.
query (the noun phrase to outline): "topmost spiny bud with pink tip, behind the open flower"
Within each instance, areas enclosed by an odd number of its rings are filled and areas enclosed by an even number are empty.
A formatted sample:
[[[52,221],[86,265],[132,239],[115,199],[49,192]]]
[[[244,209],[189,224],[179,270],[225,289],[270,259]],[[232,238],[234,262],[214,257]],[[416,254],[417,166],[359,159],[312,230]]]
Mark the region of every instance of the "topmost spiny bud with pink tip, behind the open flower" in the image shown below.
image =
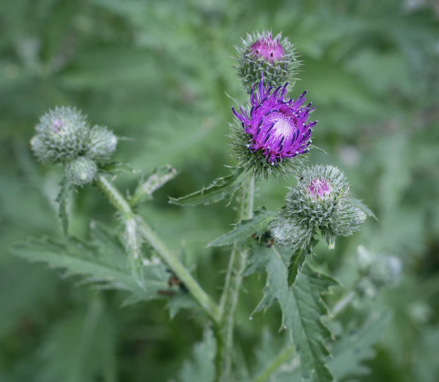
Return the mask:
[[[235,68],[248,93],[253,83],[259,82],[262,73],[265,81],[275,88],[296,79],[301,62],[297,60],[293,44],[288,37],[282,38],[282,33],[274,38],[272,32],[266,30],[247,34],[242,45],[235,46],[235,49]]]

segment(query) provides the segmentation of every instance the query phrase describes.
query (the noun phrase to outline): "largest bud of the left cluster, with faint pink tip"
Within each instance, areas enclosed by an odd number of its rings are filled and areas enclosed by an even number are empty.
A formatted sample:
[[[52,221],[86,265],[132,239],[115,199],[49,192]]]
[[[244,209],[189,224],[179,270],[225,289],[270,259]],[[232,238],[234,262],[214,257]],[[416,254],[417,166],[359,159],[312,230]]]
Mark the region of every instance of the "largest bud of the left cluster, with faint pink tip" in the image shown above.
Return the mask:
[[[55,107],[40,117],[35,129],[38,134],[31,140],[32,150],[43,163],[71,161],[84,151],[88,127],[76,108]]]

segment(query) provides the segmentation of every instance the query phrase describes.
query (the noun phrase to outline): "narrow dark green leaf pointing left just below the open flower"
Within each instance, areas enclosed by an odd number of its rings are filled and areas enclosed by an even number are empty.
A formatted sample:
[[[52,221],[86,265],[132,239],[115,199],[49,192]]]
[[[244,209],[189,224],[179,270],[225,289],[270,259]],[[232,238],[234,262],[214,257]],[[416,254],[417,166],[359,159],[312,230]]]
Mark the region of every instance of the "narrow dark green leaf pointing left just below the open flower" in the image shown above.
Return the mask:
[[[169,203],[178,206],[208,205],[223,199],[231,200],[248,176],[242,168],[235,168],[230,175],[216,179],[209,187],[180,198],[169,197]]]

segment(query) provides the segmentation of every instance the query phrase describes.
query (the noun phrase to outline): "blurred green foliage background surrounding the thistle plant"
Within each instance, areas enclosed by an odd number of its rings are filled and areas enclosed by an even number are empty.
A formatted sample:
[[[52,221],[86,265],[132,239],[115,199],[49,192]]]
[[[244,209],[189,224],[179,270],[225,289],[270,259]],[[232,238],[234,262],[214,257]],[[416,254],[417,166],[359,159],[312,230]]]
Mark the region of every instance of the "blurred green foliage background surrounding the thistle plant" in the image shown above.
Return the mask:
[[[5,382],[169,381],[202,328],[187,312],[172,321],[166,302],[120,308],[58,271],[13,257],[28,236],[62,237],[55,198],[61,168],[32,157],[39,115],[77,106],[118,136],[116,159],[180,175],[142,207],[146,220],[215,298],[228,253],[205,244],[230,230],[233,205],[176,207],[183,196],[226,175],[231,104],[246,93],[234,75],[234,45],[264,28],[290,36],[304,66],[293,97],[320,122],[312,163],[345,171],[356,197],[373,209],[360,232],[336,249],[316,249],[317,266],[343,284],[356,246],[394,253],[398,287],[372,302],[394,311],[361,381],[439,378],[439,4],[435,0],[1,0],[0,1],[0,380]],[[232,98],[234,100],[232,100]],[[237,100],[237,101],[236,101]],[[116,180],[133,190],[136,179]],[[283,205],[290,181],[259,182],[256,206]],[[71,203],[72,231],[90,218],[115,226],[114,211],[85,186]],[[237,340],[250,368],[264,327],[280,326],[277,307],[248,316],[264,279],[245,280]],[[244,293],[243,292],[243,293]]]

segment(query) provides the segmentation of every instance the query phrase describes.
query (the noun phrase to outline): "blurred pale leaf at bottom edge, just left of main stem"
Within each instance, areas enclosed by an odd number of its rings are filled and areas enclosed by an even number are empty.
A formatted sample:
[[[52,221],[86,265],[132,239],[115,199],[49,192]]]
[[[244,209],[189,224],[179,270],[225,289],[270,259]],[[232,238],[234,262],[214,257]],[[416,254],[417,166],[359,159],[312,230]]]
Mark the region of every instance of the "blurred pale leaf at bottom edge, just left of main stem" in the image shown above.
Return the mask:
[[[180,373],[181,382],[213,382],[215,378],[216,341],[211,329],[205,329],[203,340],[194,345],[192,359],[185,360]]]

